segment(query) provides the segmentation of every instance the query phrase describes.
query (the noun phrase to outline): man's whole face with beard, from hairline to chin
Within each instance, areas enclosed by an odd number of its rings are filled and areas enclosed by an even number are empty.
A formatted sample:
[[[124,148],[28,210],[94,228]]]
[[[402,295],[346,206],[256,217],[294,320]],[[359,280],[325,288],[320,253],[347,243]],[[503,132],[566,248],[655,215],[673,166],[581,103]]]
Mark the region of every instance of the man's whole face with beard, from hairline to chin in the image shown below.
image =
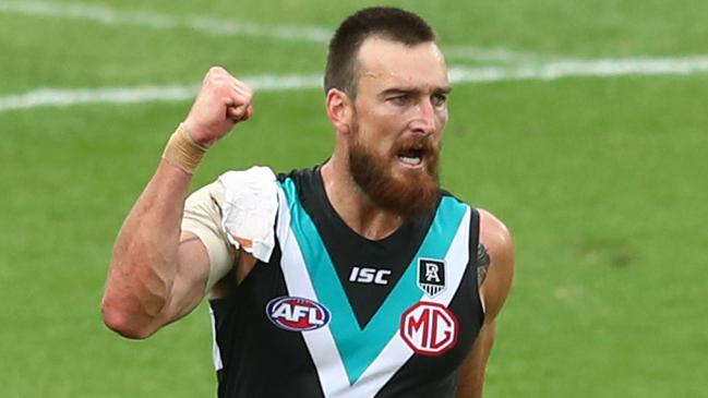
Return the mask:
[[[449,83],[434,43],[381,38],[361,45],[349,170],[379,206],[413,218],[439,195],[437,161]]]

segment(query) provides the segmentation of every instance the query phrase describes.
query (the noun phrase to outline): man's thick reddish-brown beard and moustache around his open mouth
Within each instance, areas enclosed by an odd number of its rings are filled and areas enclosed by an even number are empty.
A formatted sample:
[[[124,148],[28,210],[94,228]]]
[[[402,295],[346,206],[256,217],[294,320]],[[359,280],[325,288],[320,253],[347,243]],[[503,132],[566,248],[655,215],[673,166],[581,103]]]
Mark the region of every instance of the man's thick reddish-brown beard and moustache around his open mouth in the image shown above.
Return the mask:
[[[394,177],[391,162],[403,149],[423,145],[425,172],[406,170]],[[376,206],[399,215],[405,220],[415,219],[432,210],[440,196],[437,162],[440,149],[425,137],[413,136],[397,143],[385,157],[369,150],[358,137],[349,148],[349,173],[361,191]]]

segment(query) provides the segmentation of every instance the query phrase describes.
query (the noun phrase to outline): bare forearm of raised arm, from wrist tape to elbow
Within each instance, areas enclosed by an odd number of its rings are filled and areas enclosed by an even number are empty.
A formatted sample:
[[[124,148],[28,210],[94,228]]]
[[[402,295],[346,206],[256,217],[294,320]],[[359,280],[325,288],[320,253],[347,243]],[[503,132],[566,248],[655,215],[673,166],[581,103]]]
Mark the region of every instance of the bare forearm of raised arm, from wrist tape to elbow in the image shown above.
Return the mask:
[[[154,333],[169,304],[191,179],[161,159],[118,233],[101,310],[108,326],[124,336]]]

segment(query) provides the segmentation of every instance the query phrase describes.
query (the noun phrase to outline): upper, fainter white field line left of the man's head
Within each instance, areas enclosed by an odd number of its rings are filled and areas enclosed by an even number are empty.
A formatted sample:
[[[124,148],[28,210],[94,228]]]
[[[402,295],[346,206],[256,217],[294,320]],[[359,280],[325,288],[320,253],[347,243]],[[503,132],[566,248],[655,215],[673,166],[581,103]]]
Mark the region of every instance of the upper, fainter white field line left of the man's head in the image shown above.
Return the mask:
[[[209,35],[255,36],[278,40],[327,43],[332,36],[332,31],[317,26],[263,25],[235,21],[235,19],[194,15],[179,17],[149,12],[118,11],[100,5],[82,3],[0,0],[0,13],[83,20],[104,25],[132,25],[154,29],[190,28]]]

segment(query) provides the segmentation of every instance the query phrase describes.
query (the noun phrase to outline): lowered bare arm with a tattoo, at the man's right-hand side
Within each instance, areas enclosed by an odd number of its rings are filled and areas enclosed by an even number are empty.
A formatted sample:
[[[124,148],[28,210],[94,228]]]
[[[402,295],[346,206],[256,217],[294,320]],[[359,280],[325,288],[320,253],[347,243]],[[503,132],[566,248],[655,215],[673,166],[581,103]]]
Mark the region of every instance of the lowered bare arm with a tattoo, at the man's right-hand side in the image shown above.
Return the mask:
[[[512,236],[496,217],[480,210],[480,246],[478,281],[484,303],[484,323],[458,375],[457,398],[480,398],[484,369],[494,343],[496,315],[512,288],[514,245]]]

